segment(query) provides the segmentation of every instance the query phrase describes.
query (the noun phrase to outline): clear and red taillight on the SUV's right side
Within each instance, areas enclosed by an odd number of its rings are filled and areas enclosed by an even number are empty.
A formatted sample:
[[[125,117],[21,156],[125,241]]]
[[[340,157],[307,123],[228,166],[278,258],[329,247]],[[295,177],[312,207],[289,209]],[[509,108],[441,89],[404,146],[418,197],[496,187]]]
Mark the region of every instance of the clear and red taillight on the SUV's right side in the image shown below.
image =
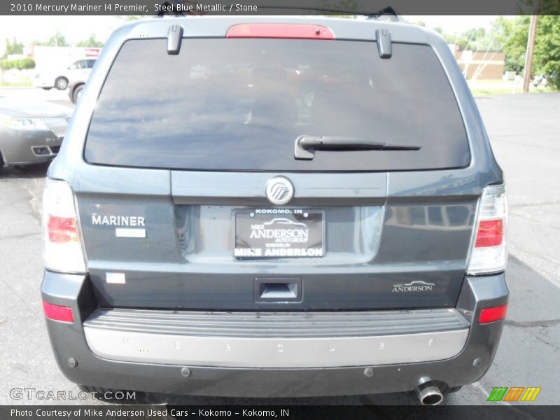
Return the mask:
[[[507,200],[505,186],[484,188],[478,207],[475,240],[470,250],[468,274],[489,274],[505,269],[507,249]]]

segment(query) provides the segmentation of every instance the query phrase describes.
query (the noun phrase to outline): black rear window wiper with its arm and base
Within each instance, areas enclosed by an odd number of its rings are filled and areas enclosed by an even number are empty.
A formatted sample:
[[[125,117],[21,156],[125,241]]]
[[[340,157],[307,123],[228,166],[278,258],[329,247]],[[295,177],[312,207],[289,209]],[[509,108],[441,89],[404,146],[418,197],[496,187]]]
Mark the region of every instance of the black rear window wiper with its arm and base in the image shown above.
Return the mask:
[[[390,144],[359,137],[300,136],[295,139],[294,157],[311,160],[316,150],[323,151],[419,151],[421,146]]]

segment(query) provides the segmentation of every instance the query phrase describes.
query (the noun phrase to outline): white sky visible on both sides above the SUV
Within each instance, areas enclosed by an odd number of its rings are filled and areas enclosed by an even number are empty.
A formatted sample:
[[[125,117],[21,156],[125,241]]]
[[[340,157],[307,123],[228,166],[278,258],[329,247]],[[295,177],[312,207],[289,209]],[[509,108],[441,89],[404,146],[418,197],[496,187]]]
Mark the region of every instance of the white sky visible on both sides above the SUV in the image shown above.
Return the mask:
[[[496,16],[402,16],[407,22],[441,27],[446,33],[461,33],[472,27],[489,28]],[[0,39],[18,38],[25,44],[46,41],[60,31],[69,43],[77,43],[95,34],[106,41],[111,32],[125,22],[116,16],[0,16]]]

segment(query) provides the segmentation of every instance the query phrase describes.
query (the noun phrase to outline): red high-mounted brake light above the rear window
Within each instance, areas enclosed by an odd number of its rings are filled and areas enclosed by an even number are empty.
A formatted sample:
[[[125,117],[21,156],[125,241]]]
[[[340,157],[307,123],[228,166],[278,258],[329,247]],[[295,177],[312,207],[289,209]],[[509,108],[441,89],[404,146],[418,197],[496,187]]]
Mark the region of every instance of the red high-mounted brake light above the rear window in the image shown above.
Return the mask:
[[[241,23],[228,29],[226,38],[297,38],[335,39],[335,34],[322,25],[288,23]]]

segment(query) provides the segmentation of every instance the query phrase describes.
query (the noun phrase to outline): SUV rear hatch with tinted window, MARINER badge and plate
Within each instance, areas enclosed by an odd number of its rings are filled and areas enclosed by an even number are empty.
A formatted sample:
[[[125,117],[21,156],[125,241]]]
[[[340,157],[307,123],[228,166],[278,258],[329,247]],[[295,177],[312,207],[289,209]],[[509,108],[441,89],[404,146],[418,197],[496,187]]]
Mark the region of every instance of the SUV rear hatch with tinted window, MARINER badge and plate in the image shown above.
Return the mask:
[[[297,159],[301,137],[327,146]],[[130,40],[84,155],[98,176],[76,196],[101,306],[455,305],[478,195],[428,45],[381,58],[374,41],[185,38],[169,54],[165,39]]]

